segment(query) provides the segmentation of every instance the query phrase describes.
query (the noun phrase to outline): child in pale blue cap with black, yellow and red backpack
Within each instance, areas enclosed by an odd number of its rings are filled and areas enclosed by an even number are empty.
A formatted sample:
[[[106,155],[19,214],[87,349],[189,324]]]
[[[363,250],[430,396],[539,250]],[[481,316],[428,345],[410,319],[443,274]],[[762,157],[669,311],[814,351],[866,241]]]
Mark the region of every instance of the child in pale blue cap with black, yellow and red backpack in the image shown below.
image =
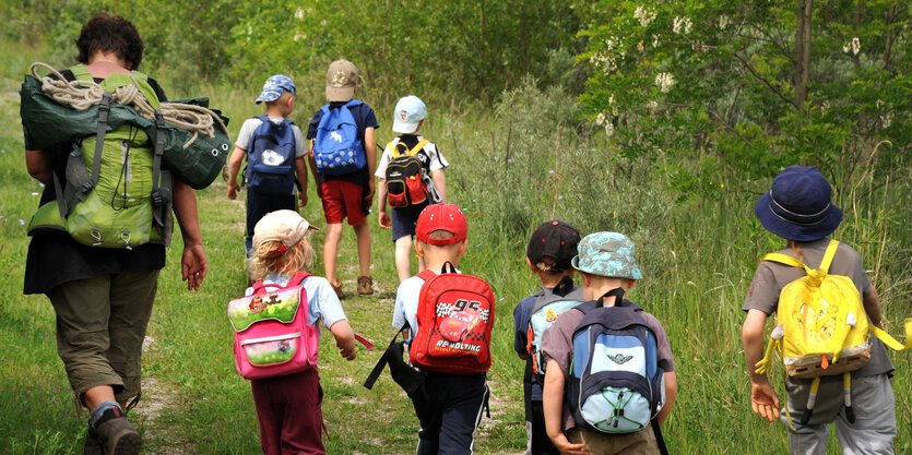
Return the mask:
[[[400,135],[387,144],[375,172],[380,178],[377,220],[383,229],[392,229],[400,282],[412,276],[411,252],[418,215],[428,204],[447,203],[443,168],[450,164],[435,143],[418,134],[426,117],[427,108],[421,98],[400,98],[393,110],[393,132]],[[424,270],[418,258],[418,272]]]

